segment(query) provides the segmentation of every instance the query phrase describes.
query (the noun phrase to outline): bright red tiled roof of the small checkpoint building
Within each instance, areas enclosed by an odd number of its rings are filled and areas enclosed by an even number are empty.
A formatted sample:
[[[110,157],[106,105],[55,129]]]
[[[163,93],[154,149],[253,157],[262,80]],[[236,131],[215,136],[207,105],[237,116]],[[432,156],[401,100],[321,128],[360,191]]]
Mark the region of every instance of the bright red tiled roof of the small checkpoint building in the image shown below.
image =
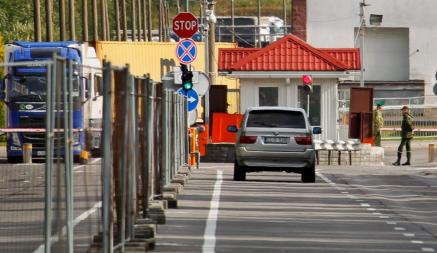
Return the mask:
[[[219,71],[343,71],[359,66],[359,49],[317,49],[293,35],[265,48],[219,50]]]

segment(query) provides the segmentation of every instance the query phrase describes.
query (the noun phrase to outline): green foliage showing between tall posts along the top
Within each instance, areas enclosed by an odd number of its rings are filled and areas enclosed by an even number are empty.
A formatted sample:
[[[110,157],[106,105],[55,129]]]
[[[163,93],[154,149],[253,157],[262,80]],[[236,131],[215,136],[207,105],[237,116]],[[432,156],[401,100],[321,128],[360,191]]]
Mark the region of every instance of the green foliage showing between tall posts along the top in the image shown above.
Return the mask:
[[[261,1],[261,15],[262,16],[277,16],[283,18],[283,0],[260,0]],[[41,30],[42,38],[45,38],[45,1],[41,1]],[[67,2],[67,1],[66,1]],[[88,2],[88,23],[89,23],[89,33],[92,35],[92,1]],[[169,20],[176,15],[177,12],[177,2],[180,3],[180,10],[184,11],[185,1],[175,1],[168,0],[166,3],[169,7]],[[189,1],[190,12],[195,15],[200,15],[200,4],[202,1]],[[129,3],[128,4],[128,23],[130,23],[130,18],[132,15]],[[159,21],[159,1],[152,0],[152,29],[158,29]],[[229,16],[231,13],[231,0],[217,2],[216,14],[217,16]],[[81,39],[82,32],[82,1],[75,1],[75,22],[76,22],[76,36]],[[99,5],[100,6],[100,5]],[[287,6],[287,23],[290,23],[291,15],[291,0],[286,0]],[[110,26],[114,27],[114,0],[108,0],[108,9],[110,16]],[[59,1],[53,1],[53,33],[54,39],[59,40]],[[66,11],[68,6],[66,6]],[[68,15],[68,11],[66,12]],[[256,16],[257,15],[257,0],[239,0],[235,1],[235,15],[237,16]],[[100,16],[100,11],[99,11]],[[67,18],[68,22],[68,18]],[[100,22],[100,18],[99,18]],[[6,42],[12,42],[16,40],[32,40],[33,39],[33,1],[30,0],[0,0],[0,33],[3,34],[3,38]],[[68,30],[68,25],[67,25]],[[68,36],[67,36],[68,37]]]

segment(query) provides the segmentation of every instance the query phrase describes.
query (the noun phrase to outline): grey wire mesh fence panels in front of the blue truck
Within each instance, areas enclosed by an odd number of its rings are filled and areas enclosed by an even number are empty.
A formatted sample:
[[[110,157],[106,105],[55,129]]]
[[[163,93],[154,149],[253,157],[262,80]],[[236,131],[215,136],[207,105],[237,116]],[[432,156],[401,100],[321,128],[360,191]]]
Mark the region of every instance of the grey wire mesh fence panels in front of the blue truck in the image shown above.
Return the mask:
[[[33,164],[0,165],[0,251],[86,252],[84,245],[98,231],[101,174],[95,165],[86,170],[73,165],[76,137],[84,131],[73,128],[73,107],[86,103],[78,99],[77,70],[85,66],[54,56],[2,67],[8,92],[15,93],[6,104],[20,123],[2,129],[14,140],[4,147],[3,158],[19,161],[5,158],[7,150],[19,150],[20,143],[21,149],[32,145],[29,158],[38,157]],[[17,69],[38,69],[32,76],[38,82],[26,83],[30,75],[14,76]]]

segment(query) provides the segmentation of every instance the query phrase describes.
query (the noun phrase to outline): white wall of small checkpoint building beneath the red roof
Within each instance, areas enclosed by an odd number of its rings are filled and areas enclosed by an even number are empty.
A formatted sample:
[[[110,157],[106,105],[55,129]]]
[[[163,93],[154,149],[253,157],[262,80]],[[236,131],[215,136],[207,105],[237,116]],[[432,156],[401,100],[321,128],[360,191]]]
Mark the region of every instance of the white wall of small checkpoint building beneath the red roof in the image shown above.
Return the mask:
[[[322,139],[337,140],[337,79],[314,79],[314,83],[321,86],[321,127]],[[279,87],[279,106],[297,107],[298,86],[302,85],[298,78],[293,79],[240,79],[242,113],[250,106],[259,106],[259,87]]]

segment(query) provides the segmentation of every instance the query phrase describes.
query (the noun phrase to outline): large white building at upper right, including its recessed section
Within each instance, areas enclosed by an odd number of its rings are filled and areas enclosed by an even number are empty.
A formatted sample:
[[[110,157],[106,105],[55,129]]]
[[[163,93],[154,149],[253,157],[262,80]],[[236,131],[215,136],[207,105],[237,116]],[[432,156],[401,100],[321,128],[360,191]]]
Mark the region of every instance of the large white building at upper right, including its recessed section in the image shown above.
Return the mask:
[[[319,48],[360,47],[362,0],[295,0],[306,9],[306,40]],[[364,79],[375,88],[375,97],[425,95],[437,104],[433,93],[437,71],[436,0],[366,0],[364,7]],[[300,9],[302,10],[302,9]],[[370,14],[383,15],[372,26]],[[302,19],[293,26],[302,27]],[[355,85],[357,82],[355,82]]]

